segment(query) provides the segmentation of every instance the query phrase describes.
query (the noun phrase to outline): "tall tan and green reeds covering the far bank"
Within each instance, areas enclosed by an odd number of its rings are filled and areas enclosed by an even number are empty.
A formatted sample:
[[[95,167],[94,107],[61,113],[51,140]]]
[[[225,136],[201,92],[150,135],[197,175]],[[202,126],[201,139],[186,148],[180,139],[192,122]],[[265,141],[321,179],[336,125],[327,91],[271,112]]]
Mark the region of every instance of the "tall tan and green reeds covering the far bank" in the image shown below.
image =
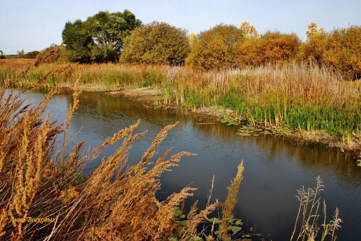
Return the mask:
[[[19,76],[22,64],[1,60],[0,78]],[[17,84],[30,85],[60,66],[44,64]],[[70,85],[79,75],[83,86],[98,85],[106,90],[160,89],[157,104],[182,105],[193,111],[232,109],[251,124],[286,126],[299,132],[319,130],[338,135],[344,145],[357,146],[361,141],[361,81],[343,81],[337,73],[312,64],[209,71],[165,65],[87,64],[56,74],[43,86]]]

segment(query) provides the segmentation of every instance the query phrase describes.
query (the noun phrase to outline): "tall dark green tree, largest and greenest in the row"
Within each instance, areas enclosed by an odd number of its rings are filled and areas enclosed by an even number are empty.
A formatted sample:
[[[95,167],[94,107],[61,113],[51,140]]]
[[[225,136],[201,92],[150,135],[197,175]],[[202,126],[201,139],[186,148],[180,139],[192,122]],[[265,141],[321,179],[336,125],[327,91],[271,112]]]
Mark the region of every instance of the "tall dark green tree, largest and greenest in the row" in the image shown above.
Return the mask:
[[[142,24],[129,10],[109,13],[100,11],[86,21],[65,23],[62,31],[70,61],[118,61],[123,39]]]

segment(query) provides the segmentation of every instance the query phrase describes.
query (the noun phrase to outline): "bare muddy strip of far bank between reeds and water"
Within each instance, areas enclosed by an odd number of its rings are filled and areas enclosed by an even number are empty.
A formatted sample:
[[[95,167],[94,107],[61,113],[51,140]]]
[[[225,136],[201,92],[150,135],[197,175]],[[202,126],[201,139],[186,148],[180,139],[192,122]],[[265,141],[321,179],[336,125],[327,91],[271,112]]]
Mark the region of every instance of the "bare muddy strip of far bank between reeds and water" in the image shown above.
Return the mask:
[[[71,89],[70,85],[62,85],[64,89]],[[106,89],[102,85],[98,84],[87,84],[81,85],[80,89],[82,91],[88,92],[106,92],[110,95],[122,95],[128,98],[141,101],[147,105],[155,105],[156,107],[169,109],[174,113],[187,114],[189,116],[202,117],[205,118],[208,122],[205,124],[218,124],[221,122],[227,122],[232,124],[232,119],[237,121],[237,124],[240,128],[243,125],[249,124],[249,120],[245,115],[237,115],[232,109],[217,108],[214,107],[204,107],[197,109],[185,109],[182,105],[164,105],[161,102],[156,100],[162,97],[162,90],[160,89],[149,89],[147,87],[124,87],[118,89]],[[231,119],[230,119],[231,118]],[[296,145],[306,145],[306,144],[317,144],[322,145],[323,147],[340,150],[342,152],[348,152],[353,157],[358,157],[361,151],[361,142],[356,138],[352,139],[349,145],[340,141],[340,137],[336,134],[331,135],[325,130],[292,130],[290,128],[282,128],[282,126],[269,125],[265,126],[261,121],[255,121],[254,126],[256,128],[262,128],[263,130],[269,132],[271,135],[277,135]]]

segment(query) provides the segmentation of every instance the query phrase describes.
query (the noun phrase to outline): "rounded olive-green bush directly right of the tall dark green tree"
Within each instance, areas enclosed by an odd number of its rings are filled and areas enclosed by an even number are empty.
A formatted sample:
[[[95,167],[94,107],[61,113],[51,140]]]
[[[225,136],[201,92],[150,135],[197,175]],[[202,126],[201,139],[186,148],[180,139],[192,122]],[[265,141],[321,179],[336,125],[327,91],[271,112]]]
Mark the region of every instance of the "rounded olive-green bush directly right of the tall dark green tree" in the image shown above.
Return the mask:
[[[123,63],[183,64],[190,52],[187,31],[165,22],[136,28],[124,39]]]

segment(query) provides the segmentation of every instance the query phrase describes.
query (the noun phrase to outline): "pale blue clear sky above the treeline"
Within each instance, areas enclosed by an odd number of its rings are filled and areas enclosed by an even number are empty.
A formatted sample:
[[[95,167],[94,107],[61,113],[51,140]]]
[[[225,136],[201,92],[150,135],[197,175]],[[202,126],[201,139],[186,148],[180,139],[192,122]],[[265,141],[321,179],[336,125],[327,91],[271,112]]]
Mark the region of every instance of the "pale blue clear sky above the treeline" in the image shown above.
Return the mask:
[[[361,0],[0,0],[0,50],[5,54],[43,50],[61,43],[65,22],[84,21],[101,10],[124,9],[143,23],[168,22],[196,34],[219,23],[239,26],[247,21],[258,33],[293,32],[305,40],[311,22],[326,31],[361,25]]]

